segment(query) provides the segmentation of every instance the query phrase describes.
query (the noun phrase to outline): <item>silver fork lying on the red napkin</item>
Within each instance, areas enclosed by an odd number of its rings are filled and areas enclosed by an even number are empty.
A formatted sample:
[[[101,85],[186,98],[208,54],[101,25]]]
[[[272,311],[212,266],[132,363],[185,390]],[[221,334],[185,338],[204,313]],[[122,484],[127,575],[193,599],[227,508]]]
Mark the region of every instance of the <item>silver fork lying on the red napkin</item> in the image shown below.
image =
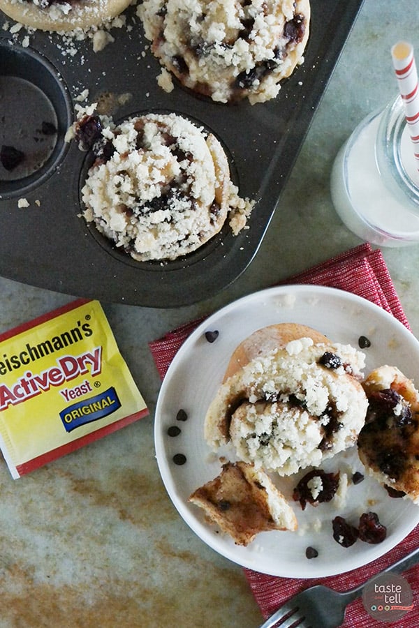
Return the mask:
[[[419,547],[380,571],[380,574],[386,571],[401,574],[417,562],[419,562]],[[365,585],[378,575],[344,592],[334,591],[323,585],[310,587],[288,600],[260,628],[272,628],[276,625],[278,628],[337,628],[344,621],[346,606],[362,595]]]

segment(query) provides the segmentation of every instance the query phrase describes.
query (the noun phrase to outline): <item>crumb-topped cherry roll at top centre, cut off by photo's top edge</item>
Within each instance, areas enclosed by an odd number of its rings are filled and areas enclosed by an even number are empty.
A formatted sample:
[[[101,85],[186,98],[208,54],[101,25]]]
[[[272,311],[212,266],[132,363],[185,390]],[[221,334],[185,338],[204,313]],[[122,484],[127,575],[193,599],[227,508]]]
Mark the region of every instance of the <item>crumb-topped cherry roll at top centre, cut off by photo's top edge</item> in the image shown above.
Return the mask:
[[[221,103],[275,98],[309,37],[309,0],[145,0],[138,15],[161,64]]]

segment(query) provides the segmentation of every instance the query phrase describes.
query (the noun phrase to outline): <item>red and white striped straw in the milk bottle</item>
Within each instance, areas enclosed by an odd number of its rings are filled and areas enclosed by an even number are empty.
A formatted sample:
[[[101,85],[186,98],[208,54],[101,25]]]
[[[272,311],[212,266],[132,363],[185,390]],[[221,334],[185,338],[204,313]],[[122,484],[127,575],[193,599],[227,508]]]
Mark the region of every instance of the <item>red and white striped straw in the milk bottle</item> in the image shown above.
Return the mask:
[[[406,41],[399,41],[392,46],[391,55],[419,170],[419,85],[413,46]]]

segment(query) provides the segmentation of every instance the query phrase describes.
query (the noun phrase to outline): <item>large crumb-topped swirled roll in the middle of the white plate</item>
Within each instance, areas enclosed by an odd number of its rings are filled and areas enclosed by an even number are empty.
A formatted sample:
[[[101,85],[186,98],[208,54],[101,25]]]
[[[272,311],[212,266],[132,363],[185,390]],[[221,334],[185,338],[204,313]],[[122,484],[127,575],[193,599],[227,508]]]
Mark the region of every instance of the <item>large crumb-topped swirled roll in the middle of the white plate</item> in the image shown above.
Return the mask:
[[[265,345],[272,329],[260,332],[263,352],[253,347],[255,357],[221,384],[205,417],[214,451],[230,443],[240,460],[289,475],[355,444],[367,412],[365,355],[300,332],[307,328],[295,327],[295,339],[284,336],[277,348]]]

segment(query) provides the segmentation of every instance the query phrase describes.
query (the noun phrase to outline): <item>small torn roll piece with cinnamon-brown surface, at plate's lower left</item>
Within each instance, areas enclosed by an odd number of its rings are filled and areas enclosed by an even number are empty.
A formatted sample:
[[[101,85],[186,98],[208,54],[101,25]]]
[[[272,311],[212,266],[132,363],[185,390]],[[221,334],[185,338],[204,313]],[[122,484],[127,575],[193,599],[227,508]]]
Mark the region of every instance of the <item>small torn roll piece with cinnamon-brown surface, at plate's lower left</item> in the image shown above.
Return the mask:
[[[192,493],[189,501],[230,535],[247,546],[259,532],[296,530],[293,509],[267,475],[243,462],[226,463],[221,473]]]

